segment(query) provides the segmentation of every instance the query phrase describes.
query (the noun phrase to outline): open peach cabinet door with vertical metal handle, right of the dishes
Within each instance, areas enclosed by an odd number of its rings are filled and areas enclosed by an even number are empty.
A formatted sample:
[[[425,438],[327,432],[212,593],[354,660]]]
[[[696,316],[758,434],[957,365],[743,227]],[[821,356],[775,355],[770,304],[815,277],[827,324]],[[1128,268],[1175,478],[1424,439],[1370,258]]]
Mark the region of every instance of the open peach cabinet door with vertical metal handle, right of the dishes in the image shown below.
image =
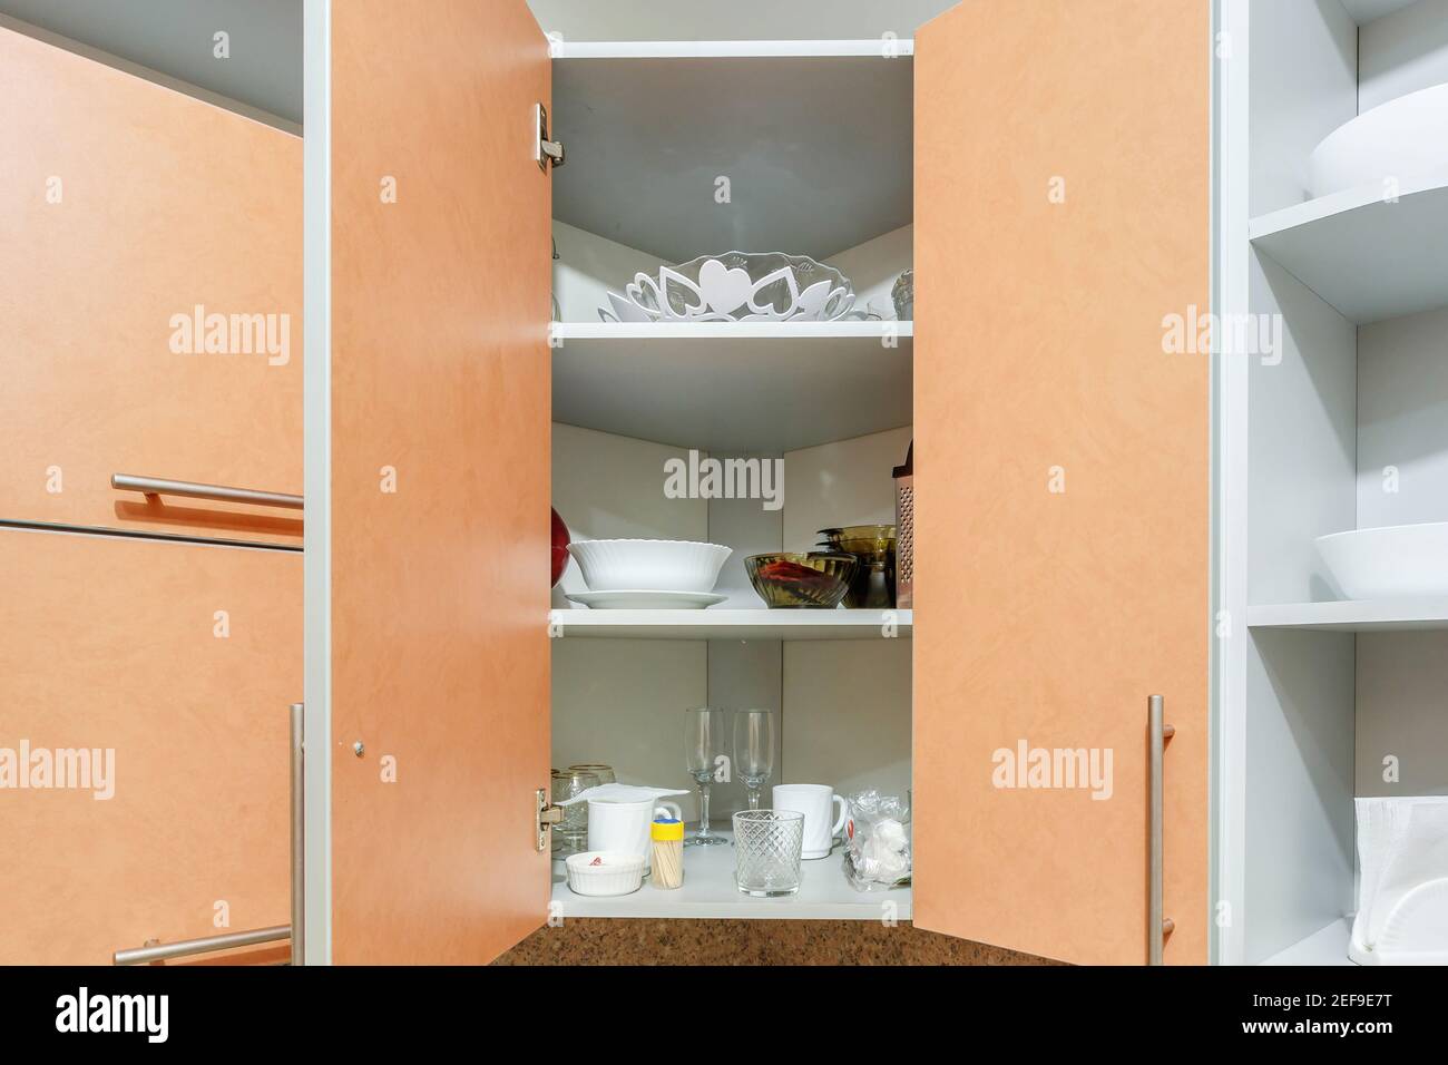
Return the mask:
[[[1209,359],[1163,339],[1211,307],[1209,9],[915,39],[914,916],[1070,962],[1147,958],[1151,694],[1166,958],[1206,961]]]

